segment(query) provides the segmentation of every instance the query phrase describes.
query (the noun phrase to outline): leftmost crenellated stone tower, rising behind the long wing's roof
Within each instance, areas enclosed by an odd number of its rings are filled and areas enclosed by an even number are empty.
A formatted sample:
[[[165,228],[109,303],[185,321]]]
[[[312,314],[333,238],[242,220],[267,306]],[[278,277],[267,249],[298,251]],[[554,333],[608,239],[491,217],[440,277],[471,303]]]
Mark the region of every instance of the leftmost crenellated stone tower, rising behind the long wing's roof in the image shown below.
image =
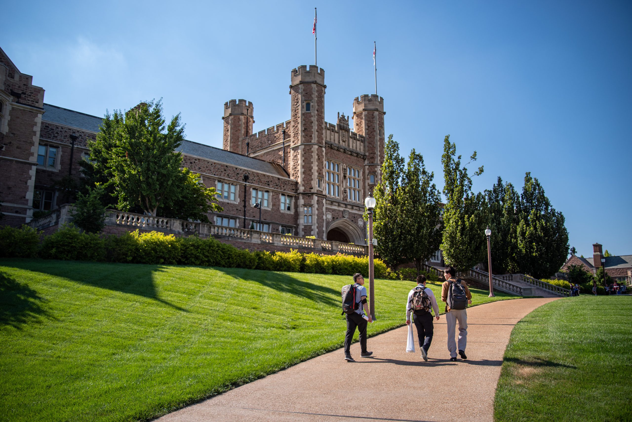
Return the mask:
[[[224,149],[246,154],[243,138],[252,135],[252,124],[255,123],[252,102],[246,100],[226,102],[222,120],[224,121]]]

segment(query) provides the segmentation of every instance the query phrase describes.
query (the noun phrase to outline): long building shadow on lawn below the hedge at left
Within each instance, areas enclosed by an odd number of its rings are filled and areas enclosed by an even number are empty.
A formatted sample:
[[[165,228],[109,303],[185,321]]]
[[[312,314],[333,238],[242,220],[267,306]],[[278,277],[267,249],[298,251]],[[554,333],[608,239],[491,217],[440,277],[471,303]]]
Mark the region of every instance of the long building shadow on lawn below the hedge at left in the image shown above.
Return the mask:
[[[101,289],[135,294],[166,304],[176,310],[188,312],[176,304],[159,298],[154,284],[154,275],[164,272],[164,267],[161,265],[58,260],[12,260],[10,265],[55,277],[63,277]]]

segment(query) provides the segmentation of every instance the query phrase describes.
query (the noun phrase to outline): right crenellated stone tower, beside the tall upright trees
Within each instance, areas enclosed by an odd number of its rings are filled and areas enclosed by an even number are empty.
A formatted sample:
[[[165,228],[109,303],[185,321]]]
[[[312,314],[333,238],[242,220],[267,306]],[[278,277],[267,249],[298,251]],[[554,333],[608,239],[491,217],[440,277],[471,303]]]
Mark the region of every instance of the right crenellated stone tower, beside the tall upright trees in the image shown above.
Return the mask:
[[[384,162],[384,99],[378,95],[361,95],[353,100],[353,128],[365,138],[364,186],[372,192],[380,180]],[[375,183],[371,183],[372,176]]]

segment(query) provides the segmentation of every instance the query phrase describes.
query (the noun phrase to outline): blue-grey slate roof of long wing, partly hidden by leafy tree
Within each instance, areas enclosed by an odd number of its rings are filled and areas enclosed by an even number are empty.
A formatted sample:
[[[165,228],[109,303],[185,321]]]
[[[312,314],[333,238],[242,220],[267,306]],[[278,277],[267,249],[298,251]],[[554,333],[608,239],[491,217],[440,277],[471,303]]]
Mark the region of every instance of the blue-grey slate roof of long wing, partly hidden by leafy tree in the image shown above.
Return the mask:
[[[44,115],[42,116],[43,121],[64,124],[65,126],[91,132],[98,132],[99,126],[103,121],[103,118],[64,109],[57,105],[44,104],[44,111]],[[235,152],[229,152],[202,143],[185,140],[177,150],[183,154],[196,155],[197,157],[223,162],[230,166],[244,167],[253,171],[281,176],[282,178],[289,177],[288,173],[279,164],[253,157],[246,157],[245,155],[236,154]]]

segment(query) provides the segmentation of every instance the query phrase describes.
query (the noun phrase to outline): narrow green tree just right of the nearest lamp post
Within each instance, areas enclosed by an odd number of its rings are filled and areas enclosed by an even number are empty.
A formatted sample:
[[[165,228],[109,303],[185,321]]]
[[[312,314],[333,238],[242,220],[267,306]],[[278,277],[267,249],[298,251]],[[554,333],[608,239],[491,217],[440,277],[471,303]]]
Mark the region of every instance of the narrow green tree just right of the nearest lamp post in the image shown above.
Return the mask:
[[[399,143],[389,135],[384,146],[384,163],[380,181],[373,190],[375,196],[374,236],[378,239],[375,251],[387,265],[397,268],[406,262],[403,228],[401,225],[401,175],[404,159],[399,155]],[[365,219],[367,216],[365,215]]]

